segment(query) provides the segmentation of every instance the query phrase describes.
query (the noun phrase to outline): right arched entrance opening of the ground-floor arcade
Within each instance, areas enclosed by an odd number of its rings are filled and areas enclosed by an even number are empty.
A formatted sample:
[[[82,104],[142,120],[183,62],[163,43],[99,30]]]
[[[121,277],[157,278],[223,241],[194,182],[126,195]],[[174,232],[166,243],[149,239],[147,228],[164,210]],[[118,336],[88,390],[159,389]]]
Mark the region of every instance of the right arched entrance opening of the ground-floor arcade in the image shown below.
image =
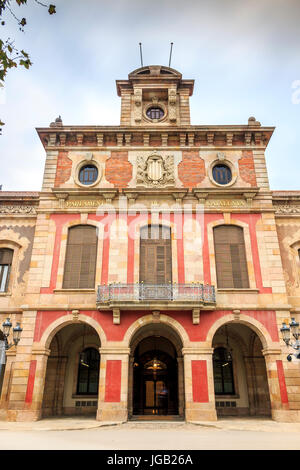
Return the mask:
[[[226,323],[213,338],[218,416],[271,416],[265,358],[258,335],[240,323]]]

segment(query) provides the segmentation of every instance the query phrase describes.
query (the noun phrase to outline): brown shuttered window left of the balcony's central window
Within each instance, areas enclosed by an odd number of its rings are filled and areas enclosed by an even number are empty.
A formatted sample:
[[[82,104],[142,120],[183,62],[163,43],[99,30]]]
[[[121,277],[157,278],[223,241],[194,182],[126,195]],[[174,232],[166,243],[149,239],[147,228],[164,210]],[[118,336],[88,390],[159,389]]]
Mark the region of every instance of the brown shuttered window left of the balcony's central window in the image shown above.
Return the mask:
[[[95,287],[97,231],[90,225],[69,229],[64,272],[64,289]]]

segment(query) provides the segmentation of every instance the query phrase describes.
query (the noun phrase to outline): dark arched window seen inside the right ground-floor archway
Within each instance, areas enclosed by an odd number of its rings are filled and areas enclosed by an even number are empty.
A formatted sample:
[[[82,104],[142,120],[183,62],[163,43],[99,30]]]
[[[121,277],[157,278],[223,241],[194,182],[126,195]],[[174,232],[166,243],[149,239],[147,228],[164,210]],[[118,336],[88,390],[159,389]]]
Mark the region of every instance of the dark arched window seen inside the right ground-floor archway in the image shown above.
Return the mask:
[[[213,354],[216,395],[234,395],[232,357],[228,349],[216,348]]]

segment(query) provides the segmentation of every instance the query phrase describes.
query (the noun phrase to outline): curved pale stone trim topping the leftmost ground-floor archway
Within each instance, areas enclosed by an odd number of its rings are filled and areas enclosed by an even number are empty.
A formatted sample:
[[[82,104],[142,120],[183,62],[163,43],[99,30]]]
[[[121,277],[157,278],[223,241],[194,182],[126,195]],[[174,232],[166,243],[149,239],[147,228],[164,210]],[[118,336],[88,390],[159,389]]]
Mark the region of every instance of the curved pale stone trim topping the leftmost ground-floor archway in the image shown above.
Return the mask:
[[[64,315],[58,318],[57,320],[55,320],[54,322],[52,322],[48,326],[48,328],[46,328],[46,330],[44,331],[38,345],[35,345],[35,346],[36,347],[38,346],[43,349],[49,349],[51,341],[58,331],[60,331],[67,325],[78,324],[78,323],[87,323],[88,325],[90,325],[98,334],[101,347],[103,347],[103,345],[106,344],[106,335],[96,320],[83,314],[79,314],[78,319],[74,320],[74,316],[69,314],[69,315]]]

